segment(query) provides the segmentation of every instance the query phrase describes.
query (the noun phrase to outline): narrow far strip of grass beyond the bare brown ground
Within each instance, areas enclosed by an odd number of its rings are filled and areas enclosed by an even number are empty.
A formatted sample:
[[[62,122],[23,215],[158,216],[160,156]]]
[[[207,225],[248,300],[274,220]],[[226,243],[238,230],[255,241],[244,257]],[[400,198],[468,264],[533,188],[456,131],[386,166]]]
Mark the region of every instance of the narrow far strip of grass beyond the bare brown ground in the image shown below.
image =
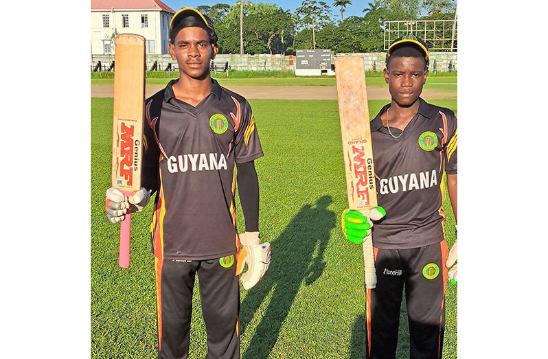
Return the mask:
[[[222,86],[335,86],[334,77],[326,78],[218,78]],[[147,78],[146,84],[165,85],[169,78]],[[112,78],[92,78],[91,84],[114,84]],[[386,86],[384,78],[367,78],[367,86]],[[426,89],[457,91],[456,76],[431,76],[426,80]]]

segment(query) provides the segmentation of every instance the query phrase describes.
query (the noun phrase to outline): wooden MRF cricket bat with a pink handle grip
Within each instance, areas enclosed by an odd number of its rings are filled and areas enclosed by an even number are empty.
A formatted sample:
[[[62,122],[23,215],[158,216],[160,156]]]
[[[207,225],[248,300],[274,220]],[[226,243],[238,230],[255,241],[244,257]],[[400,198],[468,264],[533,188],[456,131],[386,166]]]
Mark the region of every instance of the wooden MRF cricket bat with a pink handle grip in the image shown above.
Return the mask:
[[[114,43],[112,187],[130,196],[132,192],[141,189],[145,38],[135,34],[119,34]],[[118,264],[128,268],[129,211],[121,224]]]

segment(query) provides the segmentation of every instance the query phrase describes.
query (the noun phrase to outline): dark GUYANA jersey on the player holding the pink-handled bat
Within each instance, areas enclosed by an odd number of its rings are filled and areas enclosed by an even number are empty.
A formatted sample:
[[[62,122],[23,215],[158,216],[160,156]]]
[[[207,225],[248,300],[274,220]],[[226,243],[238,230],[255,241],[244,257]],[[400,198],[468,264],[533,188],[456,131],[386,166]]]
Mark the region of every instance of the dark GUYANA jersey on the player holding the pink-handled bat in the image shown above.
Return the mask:
[[[176,81],[145,108],[143,186],[157,191],[153,250],[165,259],[231,255],[238,250],[235,162],[263,155],[253,113],[244,97],[216,80],[212,93],[191,106],[175,98]]]

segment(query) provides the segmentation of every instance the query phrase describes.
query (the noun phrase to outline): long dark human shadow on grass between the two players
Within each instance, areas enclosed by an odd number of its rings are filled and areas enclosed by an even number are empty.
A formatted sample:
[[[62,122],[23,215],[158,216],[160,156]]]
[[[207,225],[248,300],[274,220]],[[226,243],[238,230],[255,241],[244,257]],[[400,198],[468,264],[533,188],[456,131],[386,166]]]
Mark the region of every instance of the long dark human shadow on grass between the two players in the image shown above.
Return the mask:
[[[308,286],[323,273],[323,253],[336,225],[336,214],[327,209],[330,196],[319,198],[315,206],[305,205],[278,238],[271,242],[271,264],[255,288],[249,291],[240,306],[242,332],[271,294],[268,308],[251,338],[243,359],[267,358],[279,336],[291,304],[303,283]],[[314,253],[317,255],[314,257]]]

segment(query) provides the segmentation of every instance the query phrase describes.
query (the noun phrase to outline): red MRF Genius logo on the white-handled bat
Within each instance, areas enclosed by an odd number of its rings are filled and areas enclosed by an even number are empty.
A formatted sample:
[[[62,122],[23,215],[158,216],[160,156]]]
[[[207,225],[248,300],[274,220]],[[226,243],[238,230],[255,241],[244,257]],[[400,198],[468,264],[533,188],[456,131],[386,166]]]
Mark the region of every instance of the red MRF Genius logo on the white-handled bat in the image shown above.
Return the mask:
[[[348,141],[352,146],[352,153],[347,152],[350,164],[350,173],[354,174],[352,178],[352,197],[359,198],[358,207],[367,207],[370,205],[369,189],[374,190],[375,178],[373,175],[373,159],[365,156],[366,139],[356,139]],[[354,167],[354,170],[352,170]]]

